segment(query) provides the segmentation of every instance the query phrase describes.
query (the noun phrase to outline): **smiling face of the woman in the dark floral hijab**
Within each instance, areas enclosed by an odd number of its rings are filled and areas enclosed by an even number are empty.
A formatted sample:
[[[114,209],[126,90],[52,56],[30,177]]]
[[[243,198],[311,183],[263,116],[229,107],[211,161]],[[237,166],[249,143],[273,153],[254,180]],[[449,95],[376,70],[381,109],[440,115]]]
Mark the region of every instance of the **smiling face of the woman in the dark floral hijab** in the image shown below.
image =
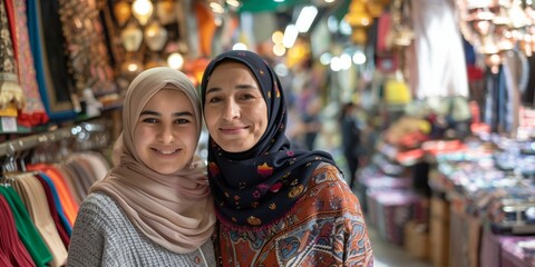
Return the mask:
[[[251,70],[223,62],[210,76],[204,103],[206,127],[225,151],[251,149],[268,128],[268,107]]]

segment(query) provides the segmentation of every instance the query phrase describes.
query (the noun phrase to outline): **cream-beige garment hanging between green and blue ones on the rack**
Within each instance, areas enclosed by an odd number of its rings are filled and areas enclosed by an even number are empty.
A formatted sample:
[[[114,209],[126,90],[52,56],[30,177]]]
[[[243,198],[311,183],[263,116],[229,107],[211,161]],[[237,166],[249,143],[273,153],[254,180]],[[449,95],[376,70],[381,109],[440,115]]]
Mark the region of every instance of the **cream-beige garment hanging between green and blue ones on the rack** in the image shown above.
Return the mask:
[[[67,261],[67,248],[50,216],[50,208],[41,184],[33,175],[23,174],[13,179],[13,188],[20,195],[31,220],[52,254],[50,266],[64,266]]]

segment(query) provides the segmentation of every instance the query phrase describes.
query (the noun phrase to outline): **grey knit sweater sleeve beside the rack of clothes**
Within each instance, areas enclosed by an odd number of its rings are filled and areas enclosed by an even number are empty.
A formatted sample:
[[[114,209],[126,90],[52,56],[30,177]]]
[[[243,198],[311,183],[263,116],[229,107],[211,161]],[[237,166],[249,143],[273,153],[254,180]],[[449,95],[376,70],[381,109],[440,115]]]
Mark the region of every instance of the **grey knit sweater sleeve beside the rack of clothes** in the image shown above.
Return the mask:
[[[119,266],[113,257],[107,256],[107,239],[113,236],[114,229],[109,210],[98,194],[86,198],[72,228],[67,266]]]

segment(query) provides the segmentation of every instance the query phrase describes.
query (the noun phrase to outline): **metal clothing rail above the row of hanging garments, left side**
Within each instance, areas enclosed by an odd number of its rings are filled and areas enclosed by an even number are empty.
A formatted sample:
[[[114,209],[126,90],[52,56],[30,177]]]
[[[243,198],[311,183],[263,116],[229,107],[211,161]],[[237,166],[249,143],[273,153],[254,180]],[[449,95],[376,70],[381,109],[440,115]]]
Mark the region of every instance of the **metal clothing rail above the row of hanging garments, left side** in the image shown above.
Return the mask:
[[[77,126],[65,127],[52,131],[18,138],[0,144],[0,157],[13,156],[13,154],[26,151],[41,144],[64,140],[86,132],[104,130],[104,122],[82,122]]]

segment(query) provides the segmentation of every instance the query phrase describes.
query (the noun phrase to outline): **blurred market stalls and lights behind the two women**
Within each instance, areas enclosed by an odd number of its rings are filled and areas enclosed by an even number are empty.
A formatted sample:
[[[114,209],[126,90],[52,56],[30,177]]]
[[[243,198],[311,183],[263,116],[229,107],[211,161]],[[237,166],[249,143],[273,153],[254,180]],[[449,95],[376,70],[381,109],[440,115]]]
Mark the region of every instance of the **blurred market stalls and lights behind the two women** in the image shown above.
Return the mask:
[[[246,49],[281,78],[292,142],[330,151],[344,169],[376,266],[535,266],[534,9],[532,0],[0,0],[0,200],[38,196],[0,201],[0,239],[21,238],[6,210],[23,209],[37,230],[22,244],[65,263],[77,208],[110,167],[132,79],[171,66],[198,86],[214,56]],[[48,209],[38,206],[47,191]],[[42,225],[62,244],[43,241]]]

